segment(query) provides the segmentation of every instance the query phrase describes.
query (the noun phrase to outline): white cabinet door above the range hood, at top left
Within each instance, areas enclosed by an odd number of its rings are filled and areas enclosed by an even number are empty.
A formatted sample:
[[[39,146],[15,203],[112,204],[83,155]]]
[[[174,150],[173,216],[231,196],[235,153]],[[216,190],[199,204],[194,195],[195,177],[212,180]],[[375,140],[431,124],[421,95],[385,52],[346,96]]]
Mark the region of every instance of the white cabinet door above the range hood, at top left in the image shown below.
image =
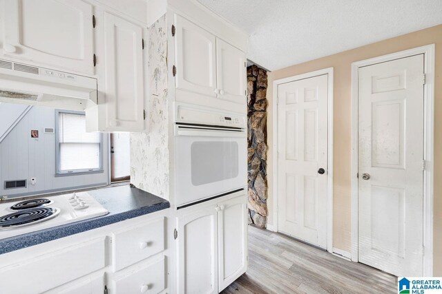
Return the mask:
[[[3,54],[94,73],[93,7],[80,0],[3,1]]]

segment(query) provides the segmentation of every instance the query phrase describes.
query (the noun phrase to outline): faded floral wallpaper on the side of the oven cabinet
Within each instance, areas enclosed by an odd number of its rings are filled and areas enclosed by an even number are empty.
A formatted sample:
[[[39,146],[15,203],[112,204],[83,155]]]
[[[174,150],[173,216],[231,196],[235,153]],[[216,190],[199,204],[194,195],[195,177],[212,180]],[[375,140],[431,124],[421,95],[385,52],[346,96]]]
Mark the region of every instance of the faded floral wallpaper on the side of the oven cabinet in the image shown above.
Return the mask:
[[[164,14],[148,29],[149,130],[131,133],[131,183],[169,199],[169,101],[167,98],[167,21]]]

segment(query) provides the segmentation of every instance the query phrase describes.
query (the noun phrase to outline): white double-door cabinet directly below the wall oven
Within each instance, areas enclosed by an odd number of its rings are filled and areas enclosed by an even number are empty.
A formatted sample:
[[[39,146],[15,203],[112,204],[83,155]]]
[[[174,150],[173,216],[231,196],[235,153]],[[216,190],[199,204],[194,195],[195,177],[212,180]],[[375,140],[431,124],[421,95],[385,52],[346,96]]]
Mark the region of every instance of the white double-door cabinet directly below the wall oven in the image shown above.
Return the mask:
[[[247,269],[247,196],[177,216],[177,293],[219,293]]]

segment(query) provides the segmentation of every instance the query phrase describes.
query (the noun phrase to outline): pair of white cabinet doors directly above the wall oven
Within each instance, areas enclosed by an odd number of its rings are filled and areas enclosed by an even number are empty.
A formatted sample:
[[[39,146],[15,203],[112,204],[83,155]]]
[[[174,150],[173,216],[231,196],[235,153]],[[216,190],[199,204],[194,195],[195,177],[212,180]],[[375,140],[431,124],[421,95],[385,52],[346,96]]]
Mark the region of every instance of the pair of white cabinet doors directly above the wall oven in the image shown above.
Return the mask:
[[[175,24],[176,88],[245,104],[245,53],[176,14]]]

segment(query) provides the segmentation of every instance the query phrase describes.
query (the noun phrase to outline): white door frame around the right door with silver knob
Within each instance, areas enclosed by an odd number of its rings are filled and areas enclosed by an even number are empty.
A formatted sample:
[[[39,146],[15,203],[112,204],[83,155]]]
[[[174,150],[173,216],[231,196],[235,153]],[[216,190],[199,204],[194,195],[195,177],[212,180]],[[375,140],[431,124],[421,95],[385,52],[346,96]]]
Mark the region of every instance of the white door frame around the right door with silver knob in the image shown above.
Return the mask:
[[[435,45],[352,63],[352,261],[358,262],[358,70],[360,67],[424,54],[423,276],[433,275],[434,54]]]

